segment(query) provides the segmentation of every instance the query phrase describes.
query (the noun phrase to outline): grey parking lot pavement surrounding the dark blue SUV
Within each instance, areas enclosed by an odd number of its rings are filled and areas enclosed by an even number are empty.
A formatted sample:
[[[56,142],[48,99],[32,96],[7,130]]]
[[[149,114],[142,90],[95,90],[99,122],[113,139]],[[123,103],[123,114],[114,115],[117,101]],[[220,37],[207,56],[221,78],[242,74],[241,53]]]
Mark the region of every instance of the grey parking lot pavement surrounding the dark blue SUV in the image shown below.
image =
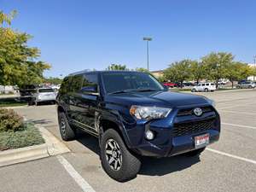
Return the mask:
[[[71,153],[0,168],[0,191],[255,191],[256,90],[193,93],[216,102],[222,131],[201,156],[143,160],[141,172],[118,183],[102,170],[95,137],[63,142]],[[16,108],[60,138],[54,105]]]

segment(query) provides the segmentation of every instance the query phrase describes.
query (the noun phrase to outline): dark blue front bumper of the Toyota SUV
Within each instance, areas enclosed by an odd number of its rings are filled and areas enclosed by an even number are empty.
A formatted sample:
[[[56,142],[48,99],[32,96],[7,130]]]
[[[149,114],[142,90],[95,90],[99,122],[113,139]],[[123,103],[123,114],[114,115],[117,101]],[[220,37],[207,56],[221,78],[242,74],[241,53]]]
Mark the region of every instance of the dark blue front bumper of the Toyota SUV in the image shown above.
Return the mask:
[[[195,137],[209,134],[209,144],[217,142],[220,134],[220,119],[217,111],[204,113],[201,117],[187,115],[177,117],[177,111],[166,119],[155,120],[149,125],[137,123],[136,127],[126,129],[126,135],[133,152],[143,156],[168,157],[195,150]],[[210,122],[207,124],[204,122]],[[184,123],[185,122],[185,123]],[[177,125],[182,125],[177,131]],[[200,125],[193,129],[194,125]],[[155,138],[148,141],[145,137],[146,127],[154,131]],[[186,132],[186,129],[189,131]]]

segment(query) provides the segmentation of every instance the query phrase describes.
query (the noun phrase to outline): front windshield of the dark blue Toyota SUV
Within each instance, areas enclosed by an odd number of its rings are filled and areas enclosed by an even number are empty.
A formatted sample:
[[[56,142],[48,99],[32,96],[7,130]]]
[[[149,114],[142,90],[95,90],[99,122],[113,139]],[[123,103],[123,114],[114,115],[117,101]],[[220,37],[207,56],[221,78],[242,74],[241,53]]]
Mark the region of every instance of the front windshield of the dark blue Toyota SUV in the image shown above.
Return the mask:
[[[107,93],[136,90],[164,90],[163,86],[147,73],[106,72],[102,79]]]

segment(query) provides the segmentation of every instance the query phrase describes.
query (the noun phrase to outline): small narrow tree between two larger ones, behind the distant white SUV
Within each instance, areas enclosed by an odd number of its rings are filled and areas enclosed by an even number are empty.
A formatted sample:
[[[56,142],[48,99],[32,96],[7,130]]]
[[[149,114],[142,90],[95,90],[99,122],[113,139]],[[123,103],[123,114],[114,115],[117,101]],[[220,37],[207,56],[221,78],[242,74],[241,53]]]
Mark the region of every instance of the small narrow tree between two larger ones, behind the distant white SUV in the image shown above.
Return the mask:
[[[206,67],[203,62],[191,61],[190,63],[191,78],[198,84],[200,79],[203,79],[206,75]]]

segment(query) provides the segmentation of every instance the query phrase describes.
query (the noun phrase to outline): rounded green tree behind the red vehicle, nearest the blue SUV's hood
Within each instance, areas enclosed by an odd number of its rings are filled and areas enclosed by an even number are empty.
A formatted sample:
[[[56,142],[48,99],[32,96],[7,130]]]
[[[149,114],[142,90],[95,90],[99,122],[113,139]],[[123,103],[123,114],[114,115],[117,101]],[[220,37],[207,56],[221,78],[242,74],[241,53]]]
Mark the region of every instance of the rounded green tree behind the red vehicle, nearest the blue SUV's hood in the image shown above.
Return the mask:
[[[180,82],[182,88],[183,81],[188,80],[191,76],[190,64],[190,60],[174,62],[170,65],[170,67],[164,70],[164,77],[173,82]]]

